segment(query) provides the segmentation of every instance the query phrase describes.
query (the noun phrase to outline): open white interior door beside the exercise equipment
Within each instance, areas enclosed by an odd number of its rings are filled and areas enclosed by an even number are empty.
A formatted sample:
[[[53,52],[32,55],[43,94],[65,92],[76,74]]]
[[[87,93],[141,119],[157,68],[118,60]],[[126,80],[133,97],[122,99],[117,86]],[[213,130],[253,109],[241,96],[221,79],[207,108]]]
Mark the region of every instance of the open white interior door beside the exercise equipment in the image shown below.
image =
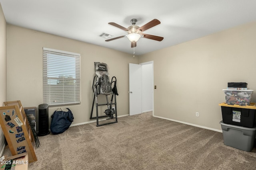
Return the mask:
[[[129,63],[129,114],[142,113],[141,65]]]

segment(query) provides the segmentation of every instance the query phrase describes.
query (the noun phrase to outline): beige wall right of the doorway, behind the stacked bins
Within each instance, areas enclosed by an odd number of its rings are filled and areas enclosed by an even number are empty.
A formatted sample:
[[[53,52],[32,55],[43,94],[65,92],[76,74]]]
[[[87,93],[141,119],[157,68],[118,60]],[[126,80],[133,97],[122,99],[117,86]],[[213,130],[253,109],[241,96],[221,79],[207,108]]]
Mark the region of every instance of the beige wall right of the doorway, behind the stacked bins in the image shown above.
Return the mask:
[[[227,83],[256,90],[255,45],[256,22],[140,56],[154,61],[154,115],[221,130]]]

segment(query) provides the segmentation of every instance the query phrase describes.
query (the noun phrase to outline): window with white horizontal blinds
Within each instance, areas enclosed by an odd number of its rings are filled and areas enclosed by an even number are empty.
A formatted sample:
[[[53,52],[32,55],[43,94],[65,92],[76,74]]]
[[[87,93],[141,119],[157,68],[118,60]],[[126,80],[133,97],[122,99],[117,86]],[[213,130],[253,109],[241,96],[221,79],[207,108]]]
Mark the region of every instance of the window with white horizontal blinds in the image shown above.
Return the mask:
[[[80,54],[43,48],[44,103],[80,103]]]

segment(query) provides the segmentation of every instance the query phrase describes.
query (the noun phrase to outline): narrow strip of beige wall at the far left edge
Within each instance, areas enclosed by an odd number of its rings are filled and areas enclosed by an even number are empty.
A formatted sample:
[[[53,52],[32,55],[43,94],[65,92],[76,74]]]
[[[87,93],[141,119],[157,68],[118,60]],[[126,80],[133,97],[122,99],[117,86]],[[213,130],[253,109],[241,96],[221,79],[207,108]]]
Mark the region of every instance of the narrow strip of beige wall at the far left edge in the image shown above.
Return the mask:
[[[6,101],[6,21],[0,4],[0,106]],[[4,151],[4,135],[0,128],[0,155]]]

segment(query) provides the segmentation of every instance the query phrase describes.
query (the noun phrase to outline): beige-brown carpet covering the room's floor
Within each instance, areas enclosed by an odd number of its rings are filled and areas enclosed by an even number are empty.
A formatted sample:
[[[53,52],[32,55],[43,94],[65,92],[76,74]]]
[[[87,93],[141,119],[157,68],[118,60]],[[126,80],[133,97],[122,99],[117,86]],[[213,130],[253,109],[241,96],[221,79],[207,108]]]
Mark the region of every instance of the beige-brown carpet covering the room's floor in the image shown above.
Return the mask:
[[[246,152],[228,147],[222,133],[159,119],[150,112],[100,127],[70,127],[39,140],[38,161],[30,163],[29,170],[256,169],[256,148]]]

